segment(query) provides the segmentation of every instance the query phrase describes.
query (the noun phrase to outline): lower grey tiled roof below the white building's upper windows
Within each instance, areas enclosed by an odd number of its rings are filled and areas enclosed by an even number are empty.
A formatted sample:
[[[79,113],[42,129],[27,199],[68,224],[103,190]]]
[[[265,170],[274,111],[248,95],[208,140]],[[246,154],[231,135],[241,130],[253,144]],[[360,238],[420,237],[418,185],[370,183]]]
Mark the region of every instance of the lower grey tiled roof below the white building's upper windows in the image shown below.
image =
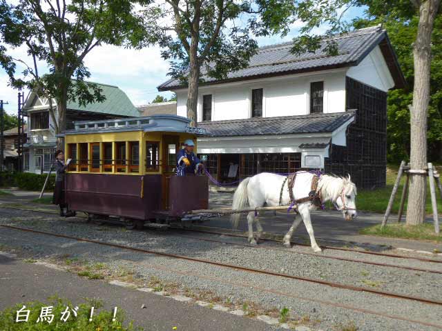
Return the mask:
[[[354,117],[353,111],[330,114],[234,119],[200,122],[211,137],[256,136],[261,134],[300,134],[333,132]]]

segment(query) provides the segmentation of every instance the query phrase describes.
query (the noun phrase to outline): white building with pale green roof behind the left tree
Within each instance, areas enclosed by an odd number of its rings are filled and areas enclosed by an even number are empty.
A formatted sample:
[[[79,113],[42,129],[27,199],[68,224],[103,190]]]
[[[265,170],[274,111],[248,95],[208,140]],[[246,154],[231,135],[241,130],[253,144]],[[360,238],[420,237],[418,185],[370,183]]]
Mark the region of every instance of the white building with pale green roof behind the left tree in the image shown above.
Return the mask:
[[[115,119],[120,117],[140,116],[131,100],[117,86],[97,83],[102,89],[106,100],[102,103],[89,103],[80,106],[77,102],[69,101],[66,112],[66,128],[73,128],[73,121],[94,121],[99,119]],[[57,106],[52,101],[55,119],[58,120]],[[55,126],[49,114],[49,101],[32,91],[28,95],[23,112],[28,117],[24,144],[23,170],[26,172],[48,172],[57,148]]]

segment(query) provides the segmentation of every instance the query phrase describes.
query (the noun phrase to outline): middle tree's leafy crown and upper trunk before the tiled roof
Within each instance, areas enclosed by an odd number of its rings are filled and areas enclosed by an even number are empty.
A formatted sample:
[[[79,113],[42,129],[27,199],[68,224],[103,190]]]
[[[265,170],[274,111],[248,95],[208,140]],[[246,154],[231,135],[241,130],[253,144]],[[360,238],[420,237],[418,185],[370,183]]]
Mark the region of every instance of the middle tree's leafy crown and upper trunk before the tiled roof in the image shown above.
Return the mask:
[[[298,18],[290,0],[164,0],[143,3],[146,34],[140,47],[158,44],[171,61],[169,74],[189,86],[187,117],[196,119],[202,72],[223,79],[248,65],[254,36],[287,33]],[[318,1],[316,1],[318,2]],[[325,3],[327,1],[319,1]],[[308,8],[298,8],[307,16]]]

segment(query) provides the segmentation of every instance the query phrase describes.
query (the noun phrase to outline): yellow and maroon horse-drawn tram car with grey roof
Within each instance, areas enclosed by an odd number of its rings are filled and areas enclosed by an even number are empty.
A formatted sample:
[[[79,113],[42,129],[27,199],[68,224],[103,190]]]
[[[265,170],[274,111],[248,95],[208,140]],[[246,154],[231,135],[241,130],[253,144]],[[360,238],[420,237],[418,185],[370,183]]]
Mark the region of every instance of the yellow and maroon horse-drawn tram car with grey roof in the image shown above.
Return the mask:
[[[175,175],[184,141],[196,143],[199,130],[189,119],[155,115],[74,125],[60,134],[72,159],[65,183],[70,210],[142,228],[208,208],[208,178]]]

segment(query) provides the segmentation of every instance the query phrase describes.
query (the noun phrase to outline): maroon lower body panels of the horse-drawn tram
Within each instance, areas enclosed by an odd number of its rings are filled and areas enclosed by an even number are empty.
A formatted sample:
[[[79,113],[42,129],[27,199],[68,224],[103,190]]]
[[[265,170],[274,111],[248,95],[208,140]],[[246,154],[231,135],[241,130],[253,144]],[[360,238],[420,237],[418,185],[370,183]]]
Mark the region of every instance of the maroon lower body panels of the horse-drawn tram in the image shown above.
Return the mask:
[[[144,221],[209,208],[207,177],[174,175],[169,179],[169,208],[163,209],[162,176],[68,173],[66,202],[71,210]]]

